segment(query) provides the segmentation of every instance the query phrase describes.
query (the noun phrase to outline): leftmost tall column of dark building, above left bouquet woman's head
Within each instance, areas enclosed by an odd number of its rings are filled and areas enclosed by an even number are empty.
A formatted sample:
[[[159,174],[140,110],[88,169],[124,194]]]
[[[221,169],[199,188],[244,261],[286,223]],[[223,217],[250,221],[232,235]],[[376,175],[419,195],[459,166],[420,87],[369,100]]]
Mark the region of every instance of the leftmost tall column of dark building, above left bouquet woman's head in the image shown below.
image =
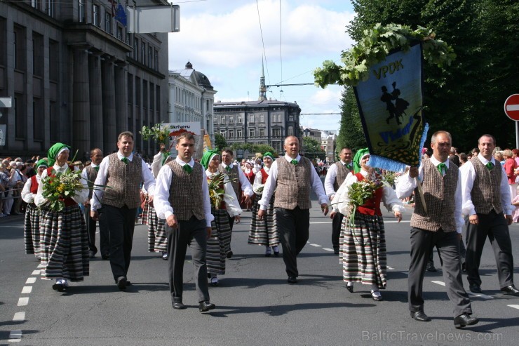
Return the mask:
[[[83,160],[90,151],[90,88],[88,86],[88,52],[74,49],[74,84],[72,90],[72,146]]]

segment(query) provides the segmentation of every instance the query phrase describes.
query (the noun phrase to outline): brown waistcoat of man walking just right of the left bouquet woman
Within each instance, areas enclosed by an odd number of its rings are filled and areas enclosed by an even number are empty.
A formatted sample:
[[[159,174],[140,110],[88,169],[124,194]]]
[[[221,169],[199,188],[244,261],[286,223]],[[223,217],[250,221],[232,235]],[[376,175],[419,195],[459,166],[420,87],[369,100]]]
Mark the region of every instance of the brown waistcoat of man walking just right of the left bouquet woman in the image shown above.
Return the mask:
[[[137,208],[140,204],[140,182],[142,180],[142,159],[133,155],[133,160],[125,164],[117,153],[109,155],[108,175],[103,204],[121,208]]]

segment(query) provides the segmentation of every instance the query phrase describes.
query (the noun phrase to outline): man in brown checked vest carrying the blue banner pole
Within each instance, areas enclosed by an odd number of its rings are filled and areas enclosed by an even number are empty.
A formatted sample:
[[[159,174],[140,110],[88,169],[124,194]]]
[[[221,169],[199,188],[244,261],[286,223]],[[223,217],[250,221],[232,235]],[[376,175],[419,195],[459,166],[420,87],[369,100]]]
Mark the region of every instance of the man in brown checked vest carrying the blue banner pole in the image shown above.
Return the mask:
[[[414,191],[415,207],[411,216],[411,263],[407,279],[407,299],[411,317],[416,321],[430,321],[424,312],[422,286],[429,255],[436,246],[443,259],[443,279],[447,295],[454,303],[454,326],[462,328],[478,323],[471,317],[469,295],[463,288],[459,239],[464,219],[461,215],[461,176],[459,168],[449,161],[452,137],[438,131],[431,138],[433,156],[423,159],[420,168],[411,167],[409,173],[398,180],[398,198],[410,196]],[[419,198],[417,180],[422,182],[425,205]]]

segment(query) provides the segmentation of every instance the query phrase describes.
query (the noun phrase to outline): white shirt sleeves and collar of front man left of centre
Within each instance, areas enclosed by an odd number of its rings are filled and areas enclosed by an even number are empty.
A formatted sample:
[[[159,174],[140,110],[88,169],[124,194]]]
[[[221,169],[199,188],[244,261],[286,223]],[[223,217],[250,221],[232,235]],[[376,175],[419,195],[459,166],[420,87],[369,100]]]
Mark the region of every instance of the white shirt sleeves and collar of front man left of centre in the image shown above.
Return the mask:
[[[184,161],[179,159],[178,157],[175,159],[177,164],[184,167],[186,164]],[[191,159],[189,161],[189,166],[193,168],[194,160]],[[202,169],[203,171],[203,169]],[[173,215],[175,211],[173,211],[173,207],[170,204],[170,187],[171,181],[173,180],[173,172],[169,166],[162,166],[159,171],[159,175],[157,175],[156,185],[155,185],[155,195],[153,199],[153,204],[155,206],[155,212],[157,217],[163,220],[166,220],[169,215]],[[213,214],[211,214],[211,201],[209,199],[209,189],[207,183],[207,176],[205,172],[202,172],[202,181],[200,182],[202,185],[202,193],[203,193],[203,213],[205,215],[205,225],[207,227],[211,227],[211,221],[215,219]]]

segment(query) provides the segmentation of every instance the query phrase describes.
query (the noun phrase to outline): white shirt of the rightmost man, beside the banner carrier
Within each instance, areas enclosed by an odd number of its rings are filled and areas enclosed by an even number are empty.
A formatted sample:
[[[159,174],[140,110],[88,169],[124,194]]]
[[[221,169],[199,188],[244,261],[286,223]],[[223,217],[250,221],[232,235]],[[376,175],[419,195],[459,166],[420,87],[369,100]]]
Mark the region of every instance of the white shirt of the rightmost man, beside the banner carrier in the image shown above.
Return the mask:
[[[506,178],[506,173],[504,171],[504,166],[499,164],[496,164],[496,161],[492,157],[490,161],[485,159],[482,154],[478,154],[478,159],[486,165],[488,162],[492,162],[494,164],[493,169],[501,169],[502,175],[501,175],[501,206],[503,207],[503,213],[505,215],[512,215],[515,206],[512,206],[512,201],[510,197],[510,189],[508,188],[508,178]],[[476,180],[476,170],[474,169],[474,166],[472,162],[466,161],[466,163],[459,168],[459,171],[461,171],[461,194],[463,195],[463,213],[464,215],[474,215],[476,214],[476,208],[474,207],[474,204],[472,203],[472,187],[474,186],[474,180]],[[489,182],[490,184],[490,182]]]

